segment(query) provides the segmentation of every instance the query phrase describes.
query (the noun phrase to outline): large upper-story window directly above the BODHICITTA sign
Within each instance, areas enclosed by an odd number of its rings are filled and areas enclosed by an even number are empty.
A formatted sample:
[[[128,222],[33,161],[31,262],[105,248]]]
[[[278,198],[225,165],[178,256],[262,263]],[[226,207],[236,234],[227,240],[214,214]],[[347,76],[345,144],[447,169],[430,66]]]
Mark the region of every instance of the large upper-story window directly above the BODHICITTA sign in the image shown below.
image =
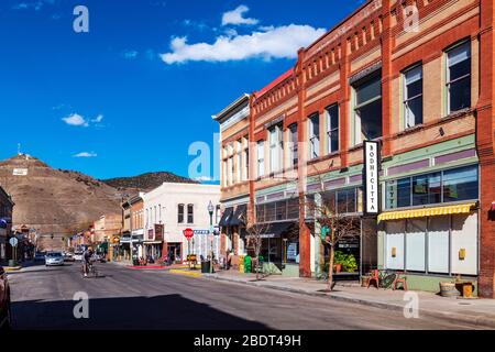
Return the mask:
[[[382,136],[382,75],[372,74],[354,84],[354,143]]]

